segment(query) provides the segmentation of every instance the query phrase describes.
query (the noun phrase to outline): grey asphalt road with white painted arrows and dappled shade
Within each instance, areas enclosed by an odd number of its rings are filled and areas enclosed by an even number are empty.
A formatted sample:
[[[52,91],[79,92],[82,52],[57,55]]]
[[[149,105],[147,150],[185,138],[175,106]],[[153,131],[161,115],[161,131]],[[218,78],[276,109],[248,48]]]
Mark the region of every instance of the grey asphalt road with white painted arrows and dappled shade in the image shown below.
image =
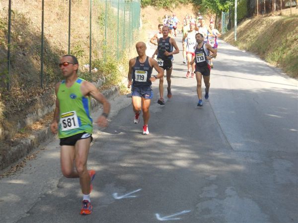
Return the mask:
[[[176,41],[173,97],[158,105],[153,84],[150,134],[142,135],[142,119],[133,123],[126,96],[111,102],[109,127],[95,127],[93,213],[79,215],[79,182],[62,176],[55,140],[0,179],[0,222],[298,222],[297,80],[220,41],[210,98],[199,108]]]

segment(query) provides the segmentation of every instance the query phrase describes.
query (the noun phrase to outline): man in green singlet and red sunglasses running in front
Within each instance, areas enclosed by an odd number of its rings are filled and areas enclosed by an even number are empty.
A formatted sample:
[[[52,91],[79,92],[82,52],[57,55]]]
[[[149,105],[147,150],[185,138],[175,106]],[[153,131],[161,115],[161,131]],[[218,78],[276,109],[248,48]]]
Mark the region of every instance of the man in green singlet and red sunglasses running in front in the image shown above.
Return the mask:
[[[108,125],[107,117],[110,103],[88,81],[77,76],[78,61],[75,56],[65,55],[60,59],[59,66],[65,80],[56,85],[56,109],[51,131],[60,138],[61,169],[68,178],[79,178],[83,193],[81,215],[92,212],[90,203],[91,181],[94,170],[87,170],[87,157],[92,141],[92,119],[90,117],[90,96],[103,105],[103,113],[96,123]],[[75,167],[75,168],[74,168]]]

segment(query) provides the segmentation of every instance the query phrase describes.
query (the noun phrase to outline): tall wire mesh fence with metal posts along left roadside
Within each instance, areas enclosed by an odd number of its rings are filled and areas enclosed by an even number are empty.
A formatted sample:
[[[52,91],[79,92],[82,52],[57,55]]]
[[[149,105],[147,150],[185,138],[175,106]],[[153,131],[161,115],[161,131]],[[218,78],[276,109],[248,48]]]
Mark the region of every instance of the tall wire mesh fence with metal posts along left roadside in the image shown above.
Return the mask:
[[[140,0],[0,0],[0,87],[43,86],[64,54],[119,59],[140,26]]]

